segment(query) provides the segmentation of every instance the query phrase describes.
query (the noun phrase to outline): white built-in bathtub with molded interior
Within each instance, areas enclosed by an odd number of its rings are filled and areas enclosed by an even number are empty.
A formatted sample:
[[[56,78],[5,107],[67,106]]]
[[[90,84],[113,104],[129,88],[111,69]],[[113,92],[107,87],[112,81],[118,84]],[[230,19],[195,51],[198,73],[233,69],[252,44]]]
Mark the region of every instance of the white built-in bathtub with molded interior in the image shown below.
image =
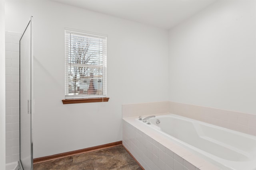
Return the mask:
[[[174,114],[156,116],[150,121],[151,125],[139,122],[222,169],[256,170],[255,136]]]

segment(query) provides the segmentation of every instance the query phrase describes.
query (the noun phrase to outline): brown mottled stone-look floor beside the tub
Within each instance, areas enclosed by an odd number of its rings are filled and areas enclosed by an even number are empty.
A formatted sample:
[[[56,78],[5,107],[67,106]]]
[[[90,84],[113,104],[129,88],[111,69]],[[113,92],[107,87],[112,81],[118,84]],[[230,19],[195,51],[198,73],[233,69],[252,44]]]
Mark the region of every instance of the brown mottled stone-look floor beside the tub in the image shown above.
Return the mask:
[[[34,170],[142,170],[123,146],[34,164]]]

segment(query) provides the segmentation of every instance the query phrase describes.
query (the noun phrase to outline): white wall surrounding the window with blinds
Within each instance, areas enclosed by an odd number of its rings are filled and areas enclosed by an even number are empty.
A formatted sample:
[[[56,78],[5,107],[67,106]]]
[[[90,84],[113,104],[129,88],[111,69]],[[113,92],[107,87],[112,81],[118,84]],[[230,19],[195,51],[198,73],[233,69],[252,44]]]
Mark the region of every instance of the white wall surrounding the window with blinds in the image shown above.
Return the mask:
[[[22,32],[30,15],[34,158],[120,141],[122,104],[168,100],[168,31],[50,1],[6,2],[6,30]],[[108,35],[109,102],[62,104],[64,27]]]

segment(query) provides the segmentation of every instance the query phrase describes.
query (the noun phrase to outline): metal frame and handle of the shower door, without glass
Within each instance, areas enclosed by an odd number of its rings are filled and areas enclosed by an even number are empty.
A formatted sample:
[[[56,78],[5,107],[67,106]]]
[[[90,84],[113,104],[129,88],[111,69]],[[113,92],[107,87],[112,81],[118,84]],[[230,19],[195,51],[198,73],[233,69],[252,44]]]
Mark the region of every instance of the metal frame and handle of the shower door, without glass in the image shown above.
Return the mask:
[[[30,101],[29,101],[29,107],[28,109],[30,110],[30,139],[31,139],[31,147],[30,147],[30,150],[31,150],[31,153],[30,153],[30,156],[31,156],[31,170],[33,170],[33,123],[32,123],[32,120],[33,120],[33,113],[34,113],[34,98],[33,98],[33,30],[32,30],[32,25],[33,25],[33,20],[32,20],[32,16],[30,16],[30,20],[28,21],[28,24],[26,26],[26,28],[24,29],[23,33],[22,33],[22,36],[20,37],[20,41],[24,35],[24,33],[26,32],[27,28],[30,26]],[[20,133],[21,134],[21,133]],[[20,144],[21,144],[21,138],[20,138]],[[20,145],[20,151],[21,151],[21,145]],[[23,166],[22,166],[22,162],[21,162],[21,152],[20,152],[20,159],[18,160],[18,166],[20,168],[20,170],[24,170]]]

